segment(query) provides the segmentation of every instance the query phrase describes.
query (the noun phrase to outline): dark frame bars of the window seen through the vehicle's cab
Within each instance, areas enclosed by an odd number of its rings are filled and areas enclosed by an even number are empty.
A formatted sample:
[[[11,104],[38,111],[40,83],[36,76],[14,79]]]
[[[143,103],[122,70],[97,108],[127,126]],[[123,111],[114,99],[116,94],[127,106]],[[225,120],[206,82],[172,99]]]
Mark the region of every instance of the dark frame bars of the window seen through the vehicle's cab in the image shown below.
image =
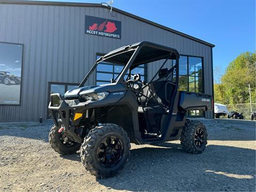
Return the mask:
[[[103,56],[105,55],[106,53],[100,53],[100,52],[97,52],[95,54],[95,61],[97,60],[97,57],[98,56]],[[109,72],[109,71],[98,71],[97,68],[95,70],[95,85],[97,85],[97,82],[100,82],[100,83],[111,83],[110,81],[105,81],[105,80],[97,80],[97,73],[105,73],[105,74],[113,74],[113,77],[115,75],[118,75],[119,73],[116,73],[115,72],[115,66],[118,65],[118,64],[115,64],[115,63],[104,63],[104,65],[109,65],[109,66],[113,66],[113,72]],[[141,67],[141,66],[138,66],[136,68],[142,68],[144,69],[144,75],[142,75],[144,77],[144,81],[147,82],[148,81],[148,68],[147,68],[147,65],[143,64],[144,66]],[[120,65],[122,66],[122,65]]]

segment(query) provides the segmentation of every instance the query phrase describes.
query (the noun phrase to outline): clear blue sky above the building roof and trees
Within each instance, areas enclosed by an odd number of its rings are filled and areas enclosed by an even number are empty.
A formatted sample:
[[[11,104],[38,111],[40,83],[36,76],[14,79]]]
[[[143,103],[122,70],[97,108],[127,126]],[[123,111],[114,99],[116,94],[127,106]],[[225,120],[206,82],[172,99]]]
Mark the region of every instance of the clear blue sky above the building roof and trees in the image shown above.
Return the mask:
[[[214,68],[225,70],[242,52],[255,51],[255,0],[114,0],[113,6],[214,44]]]

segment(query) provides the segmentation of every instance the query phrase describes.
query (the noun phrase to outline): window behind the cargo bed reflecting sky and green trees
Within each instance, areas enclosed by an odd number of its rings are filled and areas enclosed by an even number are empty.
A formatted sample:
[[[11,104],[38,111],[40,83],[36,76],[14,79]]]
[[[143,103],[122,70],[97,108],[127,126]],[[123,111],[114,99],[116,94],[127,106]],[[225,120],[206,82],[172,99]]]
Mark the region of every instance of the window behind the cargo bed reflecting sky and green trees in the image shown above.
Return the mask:
[[[179,89],[204,93],[203,58],[182,55],[179,60]],[[204,116],[203,111],[188,111],[189,116]]]

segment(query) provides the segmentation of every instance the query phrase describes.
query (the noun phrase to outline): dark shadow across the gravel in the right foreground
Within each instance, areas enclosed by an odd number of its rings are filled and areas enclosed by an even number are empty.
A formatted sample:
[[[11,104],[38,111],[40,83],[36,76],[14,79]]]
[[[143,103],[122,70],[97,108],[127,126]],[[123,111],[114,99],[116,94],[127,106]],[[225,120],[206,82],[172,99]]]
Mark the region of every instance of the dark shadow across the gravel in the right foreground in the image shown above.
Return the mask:
[[[131,150],[124,169],[97,179],[116,190],[254,191],[255,150],[209,145],[202,154],[187,154],[179,144]]]

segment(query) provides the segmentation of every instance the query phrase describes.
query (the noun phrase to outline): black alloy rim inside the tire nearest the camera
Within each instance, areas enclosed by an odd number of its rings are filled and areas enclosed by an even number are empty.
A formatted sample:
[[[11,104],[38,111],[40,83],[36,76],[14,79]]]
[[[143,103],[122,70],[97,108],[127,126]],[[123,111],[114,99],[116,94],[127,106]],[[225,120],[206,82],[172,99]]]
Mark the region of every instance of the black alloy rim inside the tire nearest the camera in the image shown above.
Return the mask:
[[[116,136],[107,137],[102,140],[98,147],[98,161],[104,167],[113,167],[121,161],[123,153],[122,141]]]

